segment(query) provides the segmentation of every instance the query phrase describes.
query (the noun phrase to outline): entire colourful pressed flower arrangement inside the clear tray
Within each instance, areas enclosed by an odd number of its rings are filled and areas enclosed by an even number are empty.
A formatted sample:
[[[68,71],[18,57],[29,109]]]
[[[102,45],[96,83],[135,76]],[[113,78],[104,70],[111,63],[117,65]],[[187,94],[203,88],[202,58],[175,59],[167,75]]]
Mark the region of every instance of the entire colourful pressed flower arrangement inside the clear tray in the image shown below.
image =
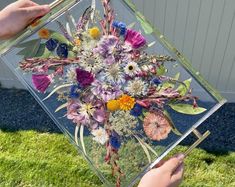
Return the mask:
[[[55,112],[66,111],[64,118],[74,123],[75,142],[83,153],[91,156],[84,136],[106,149],[103,162],[120,186],[125,173],[119,151],[130,139],[151,163],[150,153],[158,154],[150,141],[160,142],[170,133],[182,135],[169,109],[186,115],[206,109],[192,95],[191,78],[182,81],[180,73],[167,75],[165,64],[175,60],[147,53],[155,43],[148,43],[134,24],[117,20],[110,0],[101,3],[103,17],[93,0],[77,22],[72,15],[66,25],[57,21],[61,32],[42,28],[38,39],[17,47],[22,48],[18,55],[24,56],[20,69],[32,74],[36,90],[50,92],[44,101],[57,94],[62,102]]]

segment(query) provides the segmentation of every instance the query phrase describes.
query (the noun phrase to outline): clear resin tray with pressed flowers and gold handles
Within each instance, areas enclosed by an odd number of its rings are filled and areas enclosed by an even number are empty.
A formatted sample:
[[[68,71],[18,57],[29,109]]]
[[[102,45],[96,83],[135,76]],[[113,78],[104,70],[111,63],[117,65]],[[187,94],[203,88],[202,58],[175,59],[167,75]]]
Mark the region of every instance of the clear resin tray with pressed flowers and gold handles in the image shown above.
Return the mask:
[[[106,186],[132,186],[225,103],[131,1],[60,0],[1,58]],[[78,166],[79,167],[79,166]]]

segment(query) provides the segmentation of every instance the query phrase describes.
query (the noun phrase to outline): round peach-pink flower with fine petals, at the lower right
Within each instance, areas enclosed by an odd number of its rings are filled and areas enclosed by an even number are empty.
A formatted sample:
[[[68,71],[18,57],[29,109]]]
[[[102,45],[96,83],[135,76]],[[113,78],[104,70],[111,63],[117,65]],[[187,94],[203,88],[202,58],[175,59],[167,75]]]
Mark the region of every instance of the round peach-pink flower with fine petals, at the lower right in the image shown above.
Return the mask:
[[[152,140],[164,140],[171,132],[170,122],[162,112],[150,112],[144,118],[144,132]]]

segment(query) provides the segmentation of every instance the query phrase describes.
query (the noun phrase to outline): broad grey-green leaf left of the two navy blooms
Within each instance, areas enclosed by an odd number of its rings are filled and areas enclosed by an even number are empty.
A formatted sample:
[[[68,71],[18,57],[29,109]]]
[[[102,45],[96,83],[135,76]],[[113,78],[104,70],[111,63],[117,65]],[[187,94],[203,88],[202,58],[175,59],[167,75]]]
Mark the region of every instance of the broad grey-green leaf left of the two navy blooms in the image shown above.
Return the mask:
[[[24,48],[17,53],[17,55],[22,55],[24,58],[35,57],[40,47],[41,39],[31,40],[29,42],[23,43],[20,46]]]

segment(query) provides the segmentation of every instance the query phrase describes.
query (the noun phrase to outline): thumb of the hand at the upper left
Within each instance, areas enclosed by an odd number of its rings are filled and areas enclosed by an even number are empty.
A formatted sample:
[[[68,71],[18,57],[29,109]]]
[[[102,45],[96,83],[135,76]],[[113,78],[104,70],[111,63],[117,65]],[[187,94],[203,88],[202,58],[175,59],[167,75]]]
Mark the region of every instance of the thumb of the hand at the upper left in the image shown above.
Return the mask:
[[[31,6],[22,8],[25,15],[27,15],[27,18],[35,19],[41,16],[44,16],[48,12],[50,12],[50,6],[49,5],[38,5],[38,6]]]

